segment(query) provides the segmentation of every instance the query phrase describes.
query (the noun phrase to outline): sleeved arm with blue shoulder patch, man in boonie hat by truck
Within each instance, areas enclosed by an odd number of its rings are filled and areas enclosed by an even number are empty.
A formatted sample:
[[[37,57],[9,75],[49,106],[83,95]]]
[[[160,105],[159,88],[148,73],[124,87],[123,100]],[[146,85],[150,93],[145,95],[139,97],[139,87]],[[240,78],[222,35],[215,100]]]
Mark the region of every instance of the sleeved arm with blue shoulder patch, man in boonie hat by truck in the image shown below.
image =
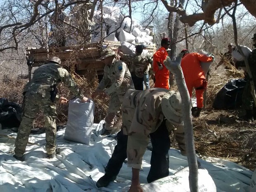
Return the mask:
[[[115,82],[107,89],[105,90],[105,93],[107,95],[110,95],[111,93],[115,92],[123,83],[123,78],[126,73],[127,66],[123,62],[119,62],[119,64],[115,64],[115,71],[116,71],[116,80]]]

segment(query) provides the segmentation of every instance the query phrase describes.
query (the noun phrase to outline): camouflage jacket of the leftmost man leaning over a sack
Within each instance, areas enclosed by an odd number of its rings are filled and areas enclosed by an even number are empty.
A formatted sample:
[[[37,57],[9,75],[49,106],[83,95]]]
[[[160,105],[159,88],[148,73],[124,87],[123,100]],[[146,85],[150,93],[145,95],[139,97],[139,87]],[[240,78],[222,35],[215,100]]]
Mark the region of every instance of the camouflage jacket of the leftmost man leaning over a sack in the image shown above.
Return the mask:
[[[33,73],[31,82],[27,83],[24,92],[50,91],[50,86],[64,82],[76,97],[83,99],[83,94],[77,87],[70,73],[59,64],[49,63],[38,67]]]

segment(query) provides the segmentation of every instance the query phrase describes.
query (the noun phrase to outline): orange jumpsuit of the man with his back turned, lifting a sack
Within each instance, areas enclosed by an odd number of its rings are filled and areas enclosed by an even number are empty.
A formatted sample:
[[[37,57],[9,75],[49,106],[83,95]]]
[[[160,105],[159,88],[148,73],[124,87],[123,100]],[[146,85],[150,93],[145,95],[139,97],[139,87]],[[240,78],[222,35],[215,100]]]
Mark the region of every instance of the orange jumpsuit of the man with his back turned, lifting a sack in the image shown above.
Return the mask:
[[[187,90],[192,96],[193,88],[196,89],[197,107],[203,108],[203,94],[204,94],[204,82],[205,74],[201,68],[201,62],[211,62],[212,57],[201,55],[199,53],[189,53],[181,60],[181,68],[187,85]]]

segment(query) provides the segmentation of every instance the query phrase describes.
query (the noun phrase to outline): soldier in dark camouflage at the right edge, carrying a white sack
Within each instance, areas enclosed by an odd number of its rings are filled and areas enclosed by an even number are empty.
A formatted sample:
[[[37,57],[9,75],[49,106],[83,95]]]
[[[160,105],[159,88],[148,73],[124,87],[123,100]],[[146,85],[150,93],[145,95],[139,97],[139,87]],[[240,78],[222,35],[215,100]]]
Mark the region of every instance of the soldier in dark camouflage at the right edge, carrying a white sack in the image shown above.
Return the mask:
[[[254,47],[256,47],[256,33],[254,33],[254,37],[252,38],[254,41]],[[253,97],[251,95],[251,85],[250,81],[254,82],[254,86],[256,86],[256,49],[254,49],[251,53],[249,53],[249,56],[247,57],[249,68],[251,70],[252,79],[249,78],[249,75],[247,74],[247,71],[244,70],[245,73],[245,79],[247,80],[247,83],[244,87],[244,92],[242,95],[242,104],[244,109],[246,110],[246,115],[244,116],[245,121],[254,121],[256,119],[256,107],[254,104]],[[235,66],[242,67],[242,69],[245,69],[245,63],[244,61],[236,61]],[[254,87],[256,90],[256,87]]]

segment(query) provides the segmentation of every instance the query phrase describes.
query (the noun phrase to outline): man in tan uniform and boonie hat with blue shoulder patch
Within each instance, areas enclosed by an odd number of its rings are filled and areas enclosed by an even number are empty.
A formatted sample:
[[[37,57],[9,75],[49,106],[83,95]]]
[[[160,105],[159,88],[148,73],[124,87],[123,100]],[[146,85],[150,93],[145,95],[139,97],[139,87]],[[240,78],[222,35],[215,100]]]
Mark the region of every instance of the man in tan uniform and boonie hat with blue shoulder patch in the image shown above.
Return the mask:
[[[123,97],[128,89],[134,89],[130,71],[127,65],[116,59],[116,54],[110,48],[101,52],[100,59],[105,64],[104,76],[100,81],[95,92],[92,93],[92,99],[100,96],[102,98],[110,95],[109,108],[105,117],[105,125],[101,135],[110,135],[114,133],[114,119],[116,112],[121,107]],[[107,86],[106,90],[104,90]]]

